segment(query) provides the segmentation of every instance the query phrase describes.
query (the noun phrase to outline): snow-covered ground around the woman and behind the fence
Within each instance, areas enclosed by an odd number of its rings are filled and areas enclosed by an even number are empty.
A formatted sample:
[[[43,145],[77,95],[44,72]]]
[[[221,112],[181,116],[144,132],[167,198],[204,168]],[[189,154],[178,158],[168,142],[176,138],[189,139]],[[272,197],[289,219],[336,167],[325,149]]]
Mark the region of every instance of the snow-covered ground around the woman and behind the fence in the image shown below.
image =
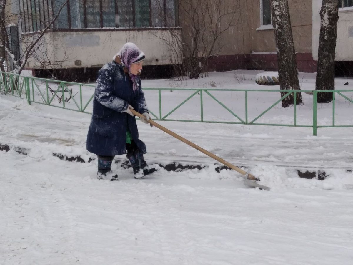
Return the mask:
[[[143,80],[143,87],[269,89],[255,84],[257,73],[210,73],[183,82]],[[313,89],[315,75],[301,74],[300,81],[303,89]],[[352,84],[337,78],[336,88],[352,89]],[[176,92],[163,94],[166,113],[180,103],[183,92]],[[312,96],[302,94],[298,119],[305,123],[312,116]],[[262,101],[253,105],[250,116],[275,102],[269,104],[263,95],[254,97]],[[243,99],[228,97],[235,102],[234,111],[242,106]],[[146,98],[150,108],[158,109],[148,90]],[[176,116],[195,118],[193,107],[186,105]],[[337,120],[343,113],[352,124],[352,107],[338,100]],[[210,108],[205,113],[210,119],[223,118],[221,110]],[[249,189],[237,172],[217,173],[216,161],[141,122],[149,164],[177,161],[208,167],[180,172],[161,168],[136,180],[132,169],[114,164],[120,180],[98,181],[96,161],[53,156],[94,157],[85,150],[90,115],[28,105],[5,95],[0,95],[0,110],[0,143],[11,147],[0,151],[0,264],[352,263],[352,128],[318,129],[314,137],[310,128],[159,122],[234,165],[246,166],[272,188],[267,192]],[[331,105],[319,110],[321,121],[329,124]],[[287,122],[289,112],[293,109],[277,107],[264,119]],[[324,181],[299,178],[298,169],[322,169],[329,176]]]

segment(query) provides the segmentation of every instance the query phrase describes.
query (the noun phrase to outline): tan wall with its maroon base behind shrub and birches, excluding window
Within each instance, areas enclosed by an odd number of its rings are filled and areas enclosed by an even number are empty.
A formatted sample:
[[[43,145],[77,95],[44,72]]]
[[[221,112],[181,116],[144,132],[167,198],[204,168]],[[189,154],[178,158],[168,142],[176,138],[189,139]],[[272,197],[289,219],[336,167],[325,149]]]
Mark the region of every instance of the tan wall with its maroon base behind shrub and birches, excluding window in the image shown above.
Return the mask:
[[[197,1],[197,0],[192,0]],[[211,0],[210,0],[211,1]],[[181,4],[189,0],[181,0]],[[213,1],[213,2],[217,2]],[[202,8],[204,6],[201,6]],[[315,71],[312,60],[312,5],[308,0],[289,1],[294,46],[297,52],[298,69]],[[260,27],[260,0],[223,0],[221,10],[235,12],[233,23],[224,31],[216,46],[221,48],[210,60],[214,70],[230,69],[277,69],[276,45],[273,27]],[[184,41],[190,46],[191,21],[189,10],[180,8],[180,23]],[[199,11],[199,13],[201,13]],[[190,16],[190,15],[189,15]],[[228,20],[227,20],[228,19]],[[229,16],[221,24],[229,21]],[[223,25],[224,27],[224,25]],[[221,30],[222,30],[221,26]],[[186,54],[185,54],[186,55]]]

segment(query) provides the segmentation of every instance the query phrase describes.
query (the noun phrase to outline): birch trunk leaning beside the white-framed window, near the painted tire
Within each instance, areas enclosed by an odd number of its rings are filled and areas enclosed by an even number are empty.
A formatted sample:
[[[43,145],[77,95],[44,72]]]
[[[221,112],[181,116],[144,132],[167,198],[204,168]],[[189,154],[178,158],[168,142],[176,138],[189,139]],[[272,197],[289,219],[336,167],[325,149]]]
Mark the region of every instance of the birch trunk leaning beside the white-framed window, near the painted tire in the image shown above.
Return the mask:
[[[280,89],[300,90],[292,35],[291,18],[287,0],[270,0],[272,23],[275,33]],[[286,93],[281,92],[281,96]],[[303,103],[301,93],[296,93],[297,105]],[[282,100],[282,107],[294,104],[294,93]]]

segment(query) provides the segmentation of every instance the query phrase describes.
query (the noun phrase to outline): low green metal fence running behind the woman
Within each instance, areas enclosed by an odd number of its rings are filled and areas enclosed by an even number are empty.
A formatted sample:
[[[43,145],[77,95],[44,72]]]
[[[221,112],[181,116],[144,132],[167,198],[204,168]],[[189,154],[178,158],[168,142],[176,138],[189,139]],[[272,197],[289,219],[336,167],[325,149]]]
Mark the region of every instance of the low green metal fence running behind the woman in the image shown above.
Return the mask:
[[[73,83],[73,82],[64,82],[56,81],[44,78],[28,77],[28,76],[19,76],[13,73],[0,72],[0,90],[3,93],[11,94],[20,98],[25,98],[29,104],[32,102],[44,105],[50,105],[54,107],[64,108],[67,110],[78,111],[83,113],[89,113],[87,107],[93,99],[93,90],[95,85],[93,84],[83,84],[83,83]],[[75,93],[73,88],[77,90]],[[283,93],[283,90],[279,89],[203,89],[203,88],[173,88],[173,91],[190,91],[192,93],[189,97],[183,100],[179,105],[169,111],[167,114],[162,113],[162,92],[170,91],[170,88],[144,88],[145,91],[155,90],[158,93],[158,109],[159,113],[154,113],[150,111],[151,115],[155,120],[166,120],[166,121],[182,121],[182,122],[203,122],[203,123],[228,123],[228,124],[244,124],[244,125],[267,125],[267,126],[291,126],[291,127],[303,127],[303,128],[312,128],[312,135],[317,135],[318,128],[339,128],[339,127],[353,127],[353,124],[346,125],[337,125],[335,123],[335,111],[336,111],[336,96],[340,96],[343,99],[353,104],[352,98],[349,98],[343,93],[351,93],[353,90],[285,90],[285,94],[270,105],[268,108],[263,110],[256,117],[249,119],[249,98],[255,96],[256,92],[264,93]],[[216,98],[214,93],[244,93],[244,106],[245,106],[245,116],[241,118],[240,114],[236,114],[232,111],[231,108],[221,102]],[[299,124],[297,122],[297,105],[296,105],[296,94],[298,92],[306,92],[312,94],[312,118],[310,124]],[[293,105],[293,123],[258,123],[256,122],[261,118],[265,113],[273,109],[277,104],[279,104],[283,99],[294,93],[294,105]],[[318,104],[317,104],[317,94],[318,93],[333,93],[332,101],[332,123],[330,125],[318,125],[317,113],[318,113]],[[220,120],[205,120],[204,119],[204,95],[209,96],[214,102],[217,102],[227,113],[231,113],[232,117],[235,117],[236,121],[220,121]],[[277,95],[277,94],[276,94]],[[192,98],[199,97],[199,106],[200,106],[200,119],[191,120],[191,119],[170,119],[168,118],[170,114],[174,113],[181,106],[183,106],[187,101]],[[57,100],[56,100],[57,99]],[[73,102],[73,104],[67,104],[68,101]],[[150,106],[151,107],[151,106]],[[353,112],[351,111],[351,115]]]

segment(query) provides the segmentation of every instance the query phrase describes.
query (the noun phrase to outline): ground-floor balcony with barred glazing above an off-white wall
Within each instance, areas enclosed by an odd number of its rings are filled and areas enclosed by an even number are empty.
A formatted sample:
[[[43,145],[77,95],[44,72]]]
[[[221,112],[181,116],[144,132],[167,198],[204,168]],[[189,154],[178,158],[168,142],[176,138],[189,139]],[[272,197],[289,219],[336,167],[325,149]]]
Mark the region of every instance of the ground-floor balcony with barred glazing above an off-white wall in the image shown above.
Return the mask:
[[[146,54],[145,70],[170,76],[168,34],[180,33],[175,0],[19,0],[19,31],[30,39],[46,27],[40,48],[27,68],[38,76],[44,69],[58,77],[95,77],[126,42]],[[65,4],[65,5],[64,5]],[[59,13],[60,8],[62,8]],[[55,14],[58,18],[49,25]],[[181,62],[181,54],[180,54]]]

